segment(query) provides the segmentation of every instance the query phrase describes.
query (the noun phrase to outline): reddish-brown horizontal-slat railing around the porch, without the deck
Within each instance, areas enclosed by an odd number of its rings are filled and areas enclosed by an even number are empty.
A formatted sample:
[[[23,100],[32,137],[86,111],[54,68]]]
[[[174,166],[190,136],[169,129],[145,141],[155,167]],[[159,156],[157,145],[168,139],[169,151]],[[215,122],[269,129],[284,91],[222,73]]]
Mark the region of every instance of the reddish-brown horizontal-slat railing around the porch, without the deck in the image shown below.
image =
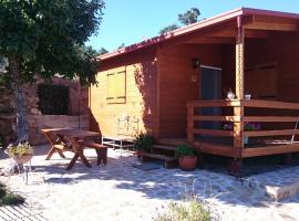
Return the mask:
[[[206,116],[200,115],[200,109],[204,107],[230,107],[233,116]],[[282,116],[245,116],[245,110],[247,108],[257,109],[265,108],[267,110],[271,109],[283,109],[285,110],[299,110],[299,104],[297,103],[286,103],[286,102],[274,102],[274,101],[259,101],[259,99],[234,99],[234,101],[193,101],[187,103],[187,139],[189,143],[194,143],[195,135],[208,135],[216,137],[233,137],[234,147],[237,151],[236,155],[244,155],[244,138],[245,137],[268,137],[268,136],[288,136],[288,135],[299,135],[299,129],[295,129],[295,125],[299,119],[299,112],[290,114],[283,113]],[[276,112],[274,112],[276,113]],[[196,122],[221,122],[229,123],[234,125],[233,130],[224,129],[205,129],[196,127]],[[293,123],[292,128],[285,129],[261,129],[245,131],[244,126],[246,123]],[[281,147],[282,148],[282,147]],[[298,147],[299,148],[299,147]],[[245,148],[246,149],[246,148]],[[249,148],[247,148],[249,149]],[[278,149],[277,149],[278,150]],[[282,151],[282,149],[278,150]],[[252,149],[248,150],[248,155],[252,155]]]

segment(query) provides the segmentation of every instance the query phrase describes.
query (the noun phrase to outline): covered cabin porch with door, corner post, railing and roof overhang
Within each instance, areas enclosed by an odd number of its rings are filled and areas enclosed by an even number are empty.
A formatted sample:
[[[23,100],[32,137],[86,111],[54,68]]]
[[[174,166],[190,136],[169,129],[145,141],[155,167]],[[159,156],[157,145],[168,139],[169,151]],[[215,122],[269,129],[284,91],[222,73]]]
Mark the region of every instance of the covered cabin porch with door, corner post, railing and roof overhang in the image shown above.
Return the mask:
[[[159,143],[190,144],[235,160],[299,151],[298,19],[243,9],[161,48]],[[205,83],[204,69],[217,70],[220,77]],[[214,95],[204,92],[215,85]],[[226,99],[224,90],[235,98]]]

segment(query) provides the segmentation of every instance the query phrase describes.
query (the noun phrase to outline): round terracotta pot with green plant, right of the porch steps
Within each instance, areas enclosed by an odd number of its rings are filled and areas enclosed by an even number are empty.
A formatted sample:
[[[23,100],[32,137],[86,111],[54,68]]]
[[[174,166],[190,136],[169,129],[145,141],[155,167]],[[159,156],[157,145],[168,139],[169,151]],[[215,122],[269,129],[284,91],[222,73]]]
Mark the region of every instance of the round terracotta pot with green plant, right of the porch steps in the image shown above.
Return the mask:
[[[178,165],[182,170],[192,171],[196,168],[197,156],[192,147],[187,145],[177,146],[176,157],[178,158]]]

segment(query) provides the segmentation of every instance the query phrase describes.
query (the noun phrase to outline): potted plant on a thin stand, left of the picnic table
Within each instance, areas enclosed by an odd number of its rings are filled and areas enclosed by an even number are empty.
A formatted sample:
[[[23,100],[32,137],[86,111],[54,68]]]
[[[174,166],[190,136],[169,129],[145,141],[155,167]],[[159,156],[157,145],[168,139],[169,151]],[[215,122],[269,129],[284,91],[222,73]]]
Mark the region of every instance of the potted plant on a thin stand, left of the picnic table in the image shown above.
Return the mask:
[[[9,145],[7,152],[17,161],[17,164],[27,164],[33,157],[33,147],[28,143]]]

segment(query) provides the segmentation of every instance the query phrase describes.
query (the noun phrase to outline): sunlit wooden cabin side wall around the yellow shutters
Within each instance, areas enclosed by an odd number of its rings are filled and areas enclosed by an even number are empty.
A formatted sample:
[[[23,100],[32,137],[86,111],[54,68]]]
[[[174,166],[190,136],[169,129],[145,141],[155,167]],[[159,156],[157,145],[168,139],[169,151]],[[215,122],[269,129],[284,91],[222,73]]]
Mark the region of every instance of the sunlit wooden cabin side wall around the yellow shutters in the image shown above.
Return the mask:
[[[107,74],[125,71],[125,102],[107,101]],[[138,120],[132,126],[154,133],[156,114],[156,49],[127,53],[100,62],[97,86],[90,87],[91,129],[105,136],[116,136],[118,118]]]

